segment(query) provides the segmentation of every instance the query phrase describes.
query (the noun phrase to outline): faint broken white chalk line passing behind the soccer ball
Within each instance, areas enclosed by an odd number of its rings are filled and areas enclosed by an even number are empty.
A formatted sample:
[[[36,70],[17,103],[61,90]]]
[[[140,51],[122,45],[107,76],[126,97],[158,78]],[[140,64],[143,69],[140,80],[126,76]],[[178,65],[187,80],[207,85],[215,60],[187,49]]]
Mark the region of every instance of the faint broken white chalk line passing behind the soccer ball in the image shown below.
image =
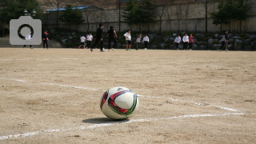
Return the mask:
[[[25,80],[20,80],[20,79],[11,79],[11,78],[0,78],[0,79],[13,80],[13,81],[18,81],[18,82],[26,82]],[[52,83],[52,82],[41,82],[41,84],[51,85],[51,86],[70,87],[70,88],[82,89],[82,90],[106,91],[106,90],[98,90],[98,89],[89,88],[89,87],[82,87],[82,86],[68,86],[68,85],[62,85],[62,84]],[[158,96],[146,96],[146,95],[141,95],[141,94],[137,94],[137,95],[139,97],[146,97],[146,98],[160,98]],[[184,100],[184,99],[176,99],[176,98],[165,98],[165,99],[169,99],[169,100],[174,101],[174,102],[187,102],[187,103],[191,103],[191,104],[194,104],[194,105],[197,105],[197,106],[217,107],[217,108],[222,109],[222,110],[229,110],[229,111],[233,111],[233,112],[241,111],[241,110],[235,110],[235,109],[224,107],[224,106],[211,106],[211,105],[206,105],[204,103],[191,102],[191,101],[187,101],[187,100]]]

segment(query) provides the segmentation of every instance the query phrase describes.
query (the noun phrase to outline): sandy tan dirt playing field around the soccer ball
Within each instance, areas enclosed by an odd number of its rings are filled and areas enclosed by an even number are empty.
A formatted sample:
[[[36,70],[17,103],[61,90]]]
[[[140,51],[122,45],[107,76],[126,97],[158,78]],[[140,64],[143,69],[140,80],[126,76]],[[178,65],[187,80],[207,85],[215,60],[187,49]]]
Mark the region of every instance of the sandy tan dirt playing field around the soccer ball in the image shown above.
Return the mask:
[[[105,90],[138,94],[126,121]],[[256,53],[0,49],[0,143],[256,143]]]

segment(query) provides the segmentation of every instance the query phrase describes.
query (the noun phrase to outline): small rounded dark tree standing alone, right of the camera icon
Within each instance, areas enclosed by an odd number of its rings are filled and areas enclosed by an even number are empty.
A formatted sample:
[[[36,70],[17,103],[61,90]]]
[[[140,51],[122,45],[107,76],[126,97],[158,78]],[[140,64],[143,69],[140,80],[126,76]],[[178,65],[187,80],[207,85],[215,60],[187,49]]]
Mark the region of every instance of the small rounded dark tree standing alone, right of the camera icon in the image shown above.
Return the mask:
[[[62,22],[66,22],[66,24],[69,26],[70,30],[70,24],[78,24],[80,22],[83,22],[82,19],[82,13],[80,10],[78,10],[76,7],[73,7],[72,5],[66,5],[66,10],[60,15],[59,19]]]

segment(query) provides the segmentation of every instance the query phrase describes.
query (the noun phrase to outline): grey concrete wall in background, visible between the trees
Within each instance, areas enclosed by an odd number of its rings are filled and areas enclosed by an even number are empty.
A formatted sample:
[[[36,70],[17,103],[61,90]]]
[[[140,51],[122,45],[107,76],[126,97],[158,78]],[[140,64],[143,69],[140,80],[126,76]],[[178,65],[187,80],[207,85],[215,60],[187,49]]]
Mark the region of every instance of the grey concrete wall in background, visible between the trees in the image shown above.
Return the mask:
[[[171,30],[171,31],[185,31],[190,30],[194,32],[202,32],[206,30],[206,9],[205,5],[202,2],[194,2],[184,5],[164,5],[157,7],[157,13],[161,15],[162,9],[164,9],[164,13],[162,15],[162,31]],[[218,11],[218,3],[210,2],[208,4],[208,12]],[[49,14],[48,26],[49,28],[54,28],[56,23],[56,16],[54,13]],[[122,14],[122,13],[121,13]],[[250,18],[248,18],[245,22],[242,22],[242,32],[244,33],[253,33],[256,32],[256,6],[254,6],[254,10],[250,13],[252,14]],[[82,15],[84,19],[87,19],[88,16],[90,22],[89,31],[95,31],[98,27],[98,23],[103,23],[105,25],[105,31],[109,29],[110,26],[114,26],[115,30],[119,30],[119,11],[118,10],[82,10]],[[156,23],[150,23],[150,31],[158,31],[160,29],[160,21],[159,17],[156,17]],[[220,30],[220,25],[215,26],[212,24],[213,19],[210,18],[208,14],[208,25],[207,30],[212,32],[217,32]],[[59,27],[66,28],[66,24],[59,22]],[[70,26],[71,30],[80,30],[86,31],[88,23],[85,21],[78,26]],[[147,31],[148,26],[142,25],[142,31]],[[121,24],[121,30],[128,30],[130,26],[126,23]],[[132,26],[132,30],[138,31],[139,26]],[[229,25],[222,25],[222,30],[229,30]],[[239,22],[231,22],[230,31],[238,31],[240,30]]]

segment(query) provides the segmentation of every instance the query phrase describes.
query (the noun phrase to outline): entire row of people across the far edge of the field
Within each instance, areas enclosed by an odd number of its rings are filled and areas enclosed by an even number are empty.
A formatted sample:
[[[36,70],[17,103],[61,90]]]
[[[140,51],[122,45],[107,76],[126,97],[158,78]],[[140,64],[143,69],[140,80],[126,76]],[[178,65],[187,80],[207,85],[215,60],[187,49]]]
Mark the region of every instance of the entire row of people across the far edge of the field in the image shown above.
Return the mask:
[[[100,52],[105,52],[103,50],[103,27],[104,25],[99,24],[99,27],[96,31],[96,40],[94,42],[94,45],[90,47],[90,43],[93,41],[94,37],[92,36],[92,34],[90,33],[89,35],[87,35],[85,37],[85,35],[82,35],[81,39],[81,44],[80,46],[78,46],[78,49],[80,49],[81,46],[83,46],[84,49],[86,48],[90,48],[90,51],[93,52],[94,46],[96,45],[100,45]],[[222,46],[220,46],[218,48],[218,51],[222,50],[222,47],[225,46],[226,47],[226,51],[228,51],[228,45],[227,42],[228,41],[228,37],[227,37],[228,31],[225,30],[224,31],[224,35],[221,39],[222,42]],[[43,43],[43,48],[48,49],[48,38],[47,31],[44,31],[42,34],[42,43]],[[108,30],[107,32],[108,38],[109,38],[109,42],[108,42],[108,50],[110,51],[110,46],[111,46],[111,42],[114,42],[114,45],[112,46],[111,50],[114,50],[114,47],[116,46],[116,39],[118,37],[116,31],[114,30],[114,26],[110,26],[110,30]],[[126,50],[131,50],[131,34],[130,34],[130,30],[127,30],[126,34],[123,35],[126,38]],[[26,44],[30,43],[30,39],[32,38],[31,33],[27,34],[25,39],[26,39]],[[178,35],[175,40],[175,46],[177,48],[177,50],[179,50],[179,43],[183,42],[183,50],[188,50],[187,47],[189,46],[189,49],[192,50],[193,44],[194,44],[194,36],[192,34],[190,34],[190,36],[188,36],[187,34],[184,34],[184,36],[181,38],[180,35]],[[144,43],[144,49],[147,50],[147,45],[150,42],[150,38],[147,36],[147,34],[145,34],[145,36],[142,38],[142,34],[138,34],[137,38],[136,38],[136,50],[138,50],[140,44]],[[26,44],[23,46],[23,48],[26,47]],[[30,49],[33,49],[33,47],[30,44]]]

